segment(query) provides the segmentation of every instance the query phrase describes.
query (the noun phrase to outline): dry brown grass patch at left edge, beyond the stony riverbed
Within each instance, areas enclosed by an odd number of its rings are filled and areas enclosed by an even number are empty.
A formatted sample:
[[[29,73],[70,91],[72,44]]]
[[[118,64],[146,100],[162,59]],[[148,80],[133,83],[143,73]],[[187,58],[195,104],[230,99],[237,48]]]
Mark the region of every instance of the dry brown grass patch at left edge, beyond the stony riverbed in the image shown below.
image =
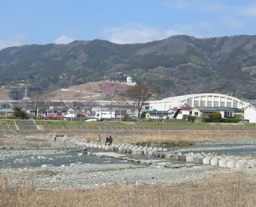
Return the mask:
[[[0,138],[0,147],[51,147],[46,139],[39,138]]]

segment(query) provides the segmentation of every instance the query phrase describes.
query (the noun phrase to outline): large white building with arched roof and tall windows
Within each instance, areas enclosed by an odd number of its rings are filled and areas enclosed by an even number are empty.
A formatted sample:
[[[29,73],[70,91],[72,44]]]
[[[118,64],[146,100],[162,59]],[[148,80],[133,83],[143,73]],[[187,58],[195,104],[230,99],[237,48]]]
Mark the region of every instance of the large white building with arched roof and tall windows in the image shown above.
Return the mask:
[[[181,106],[207,106],[207,107],[229,107],[243,109],[248,106],[249,103],[234,98],[229,95],[222,95],[216,93],[202,93],[202,94],[190,94],[180,95],[170,98],[164,98],[160,101],[149,101],[150,110],[169,110],[175,107]]]

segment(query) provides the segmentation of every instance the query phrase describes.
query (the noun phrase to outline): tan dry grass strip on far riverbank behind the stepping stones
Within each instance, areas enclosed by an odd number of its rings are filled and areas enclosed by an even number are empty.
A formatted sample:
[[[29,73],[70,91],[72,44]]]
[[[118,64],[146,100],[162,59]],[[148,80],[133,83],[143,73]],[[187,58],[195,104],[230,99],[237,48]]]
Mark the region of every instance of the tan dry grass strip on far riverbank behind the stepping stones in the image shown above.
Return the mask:
[[[108,135],[101,134],[102,139]],[[96,141],[98,133],[86,133],[82,138],[87,138],[88,141]],[[111,134],[115,142],[214,142],[214,141],[236,141],[248,138],[254,138],[254,131],[154,131],[143,133],[131,132],[113,132]]]

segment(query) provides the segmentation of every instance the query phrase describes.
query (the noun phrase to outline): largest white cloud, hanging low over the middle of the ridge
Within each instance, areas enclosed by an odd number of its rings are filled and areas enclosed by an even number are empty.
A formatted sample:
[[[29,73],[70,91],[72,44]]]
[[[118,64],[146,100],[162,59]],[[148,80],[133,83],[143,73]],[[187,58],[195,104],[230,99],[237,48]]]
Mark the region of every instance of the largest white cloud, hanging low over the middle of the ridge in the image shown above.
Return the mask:
[[[119,28],[107,28],[102,33],[104,39],[119,44],[143,43],[178,34],[188,34],[193,30],[190,25],[176,26],[175,29],[160,31],[156,28],[144,27],[140,24],[128,24]]]

